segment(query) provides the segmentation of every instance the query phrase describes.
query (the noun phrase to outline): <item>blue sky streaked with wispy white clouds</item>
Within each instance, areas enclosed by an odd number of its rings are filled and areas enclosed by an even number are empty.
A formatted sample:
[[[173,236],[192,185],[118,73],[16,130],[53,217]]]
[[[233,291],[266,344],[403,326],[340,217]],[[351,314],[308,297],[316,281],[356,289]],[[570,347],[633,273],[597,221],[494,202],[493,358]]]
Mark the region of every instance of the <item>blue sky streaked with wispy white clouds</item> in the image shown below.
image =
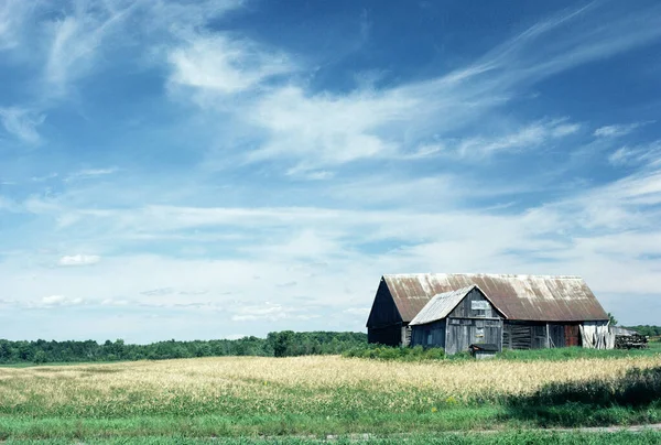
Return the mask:
[[[0,338],[365,332],[386,273],[661,315],[658,1],[0,0]]]

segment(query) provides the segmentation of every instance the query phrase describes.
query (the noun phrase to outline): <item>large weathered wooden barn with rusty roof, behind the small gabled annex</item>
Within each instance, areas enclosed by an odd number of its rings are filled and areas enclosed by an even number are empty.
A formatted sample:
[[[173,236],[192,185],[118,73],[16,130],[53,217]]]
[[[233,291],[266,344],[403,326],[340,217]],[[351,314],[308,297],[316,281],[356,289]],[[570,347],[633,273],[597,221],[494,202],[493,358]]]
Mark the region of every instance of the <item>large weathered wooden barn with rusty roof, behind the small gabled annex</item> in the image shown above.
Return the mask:
[[[474,285],[490,302],[492,314],[502,316],[501,348],[610,347],[608,315],[585,281],[546,275],[383,275],[367,322],[368,340],[409,345],[411,322],[434,296]]]

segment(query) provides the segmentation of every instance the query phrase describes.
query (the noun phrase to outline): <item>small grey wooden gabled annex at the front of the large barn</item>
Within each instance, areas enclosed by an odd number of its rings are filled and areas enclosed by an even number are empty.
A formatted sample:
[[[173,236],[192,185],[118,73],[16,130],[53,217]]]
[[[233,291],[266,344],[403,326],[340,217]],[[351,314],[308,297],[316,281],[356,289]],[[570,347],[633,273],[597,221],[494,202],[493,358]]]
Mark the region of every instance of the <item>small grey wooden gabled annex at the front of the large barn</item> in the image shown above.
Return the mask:
[[[503,318],[475,284],[444,292],[409,323],[411,346],[442,347],[446,354],[456,354],[473,344],[492,344],[501,350]]]

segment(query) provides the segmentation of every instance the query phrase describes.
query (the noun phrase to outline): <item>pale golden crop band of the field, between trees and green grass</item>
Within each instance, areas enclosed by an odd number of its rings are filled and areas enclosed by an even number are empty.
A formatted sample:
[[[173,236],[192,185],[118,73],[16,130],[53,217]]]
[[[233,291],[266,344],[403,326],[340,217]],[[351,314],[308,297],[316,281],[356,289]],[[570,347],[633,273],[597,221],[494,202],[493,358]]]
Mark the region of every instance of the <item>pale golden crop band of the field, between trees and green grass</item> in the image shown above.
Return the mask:
[[[0,368],[0,413],[134,414],[407,412],[497,401],[545,383],[611,380],[659,356],[572,361],[382,362],[335,356],[227,357]]]

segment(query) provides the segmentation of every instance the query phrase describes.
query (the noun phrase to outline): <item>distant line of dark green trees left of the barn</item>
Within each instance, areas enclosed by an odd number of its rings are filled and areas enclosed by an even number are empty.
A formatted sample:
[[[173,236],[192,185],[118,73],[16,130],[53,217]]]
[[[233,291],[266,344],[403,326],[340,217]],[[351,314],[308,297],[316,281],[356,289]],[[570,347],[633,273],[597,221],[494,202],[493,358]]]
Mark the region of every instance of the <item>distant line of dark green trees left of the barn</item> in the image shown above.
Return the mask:
[[[237,340],[158,341],[128,345],[123,340],[98,344],[86,341],[10,341],[0,339],[0,363],[53,363],[118,360],[163,360],[191,357],[264,356],[292,357],[342,354],[367,344],[367,334],[283,330],[267,338]]]

